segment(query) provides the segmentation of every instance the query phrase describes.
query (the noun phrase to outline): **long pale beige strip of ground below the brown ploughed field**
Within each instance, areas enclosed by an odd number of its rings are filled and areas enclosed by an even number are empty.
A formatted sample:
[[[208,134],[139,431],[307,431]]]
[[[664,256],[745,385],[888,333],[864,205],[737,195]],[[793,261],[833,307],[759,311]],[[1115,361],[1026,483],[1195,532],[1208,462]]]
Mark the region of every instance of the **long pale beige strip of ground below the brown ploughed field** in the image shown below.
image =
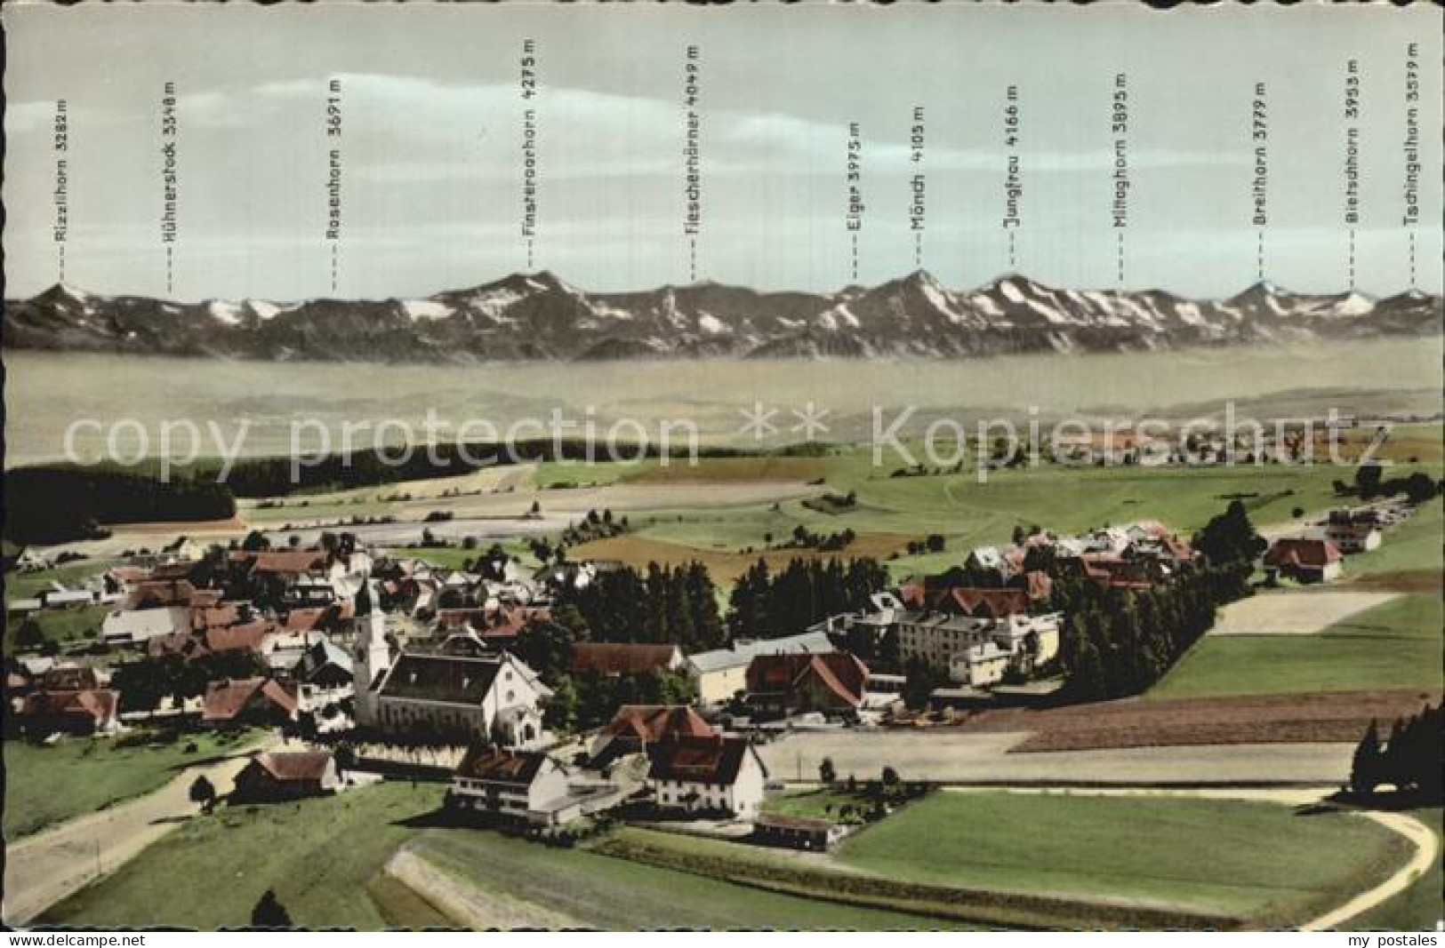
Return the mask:
[[[832,758],[847,776],[876,778],[884,765],[906,781],[952,784],[1321,784],[1350,772],[1347,743],[1196,745],[1009,753],[1027,733],[1014,732],[802,732],[762,746],[769,775],[812,781]]]

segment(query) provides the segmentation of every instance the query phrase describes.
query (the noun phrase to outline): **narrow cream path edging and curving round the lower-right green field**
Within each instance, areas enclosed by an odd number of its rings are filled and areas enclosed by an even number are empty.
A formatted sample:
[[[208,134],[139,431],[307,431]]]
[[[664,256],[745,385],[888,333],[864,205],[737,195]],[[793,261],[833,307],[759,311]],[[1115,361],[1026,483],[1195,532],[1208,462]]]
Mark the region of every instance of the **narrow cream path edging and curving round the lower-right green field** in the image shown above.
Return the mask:
[[[1039,794],[1049,792],[1039,788],[991,788],[991,792],[1006,791],[1013,794]],[[1079,794],[1094,794],[1101,796],[1137,796],[1137,795],[1155,795],[1155,796],[1202,796],[1211,799],[1248,799],[1270,804],[1283,805],[1306,805],[1318,804],[1328,795],[1334,788],[1191,788],[1191,789],[1139,789],[1139,788],[1071,788],[1069,792]],[[967,786],[951,786],[949,792],[977,792],[974,788]],[[1318,932],[1338,928],[1350,919],[1368,912],[1377,905],[1389,900],[1390,897],[1405,892],[1410,883],[1413,883],[1422,873],[1428,872],[1431,866],[1441,856],[1441,841],[1435,835],[1435,831],[1428,825],[1399,812],[1384,812],[1377,809],[1361,809],[1354,811],[1355,815],[1366,820],[1374,820],[1381,827],[1399,833],[1415,847],[1415,856],[1405,866],[1397,869],[1389,879],[1386,879],[1379,886],[1361,892],[1354,896],[1340,908],[1321,915],[1316,919],[1305,922],[1300,925],[1300,931]]]

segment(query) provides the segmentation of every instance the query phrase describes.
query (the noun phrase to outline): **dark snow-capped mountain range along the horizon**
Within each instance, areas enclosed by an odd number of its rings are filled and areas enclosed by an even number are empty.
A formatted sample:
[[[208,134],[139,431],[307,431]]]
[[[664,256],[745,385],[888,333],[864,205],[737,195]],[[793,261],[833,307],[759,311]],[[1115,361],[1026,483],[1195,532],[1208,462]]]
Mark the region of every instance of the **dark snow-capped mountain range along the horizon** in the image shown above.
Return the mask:
[[[949,290],[922,270],[837,293],[718,283],[590,293],[543,271],[410,300],[186,304],[58,284],[4,304],[12,349],[386,362],[964,358],[1433,335],[1441,328],[1441,297],[1418,291],[1309,296],[1259,283],[1228,299],[1191,300],[1163,290],[1059,290],[1017,274]]]

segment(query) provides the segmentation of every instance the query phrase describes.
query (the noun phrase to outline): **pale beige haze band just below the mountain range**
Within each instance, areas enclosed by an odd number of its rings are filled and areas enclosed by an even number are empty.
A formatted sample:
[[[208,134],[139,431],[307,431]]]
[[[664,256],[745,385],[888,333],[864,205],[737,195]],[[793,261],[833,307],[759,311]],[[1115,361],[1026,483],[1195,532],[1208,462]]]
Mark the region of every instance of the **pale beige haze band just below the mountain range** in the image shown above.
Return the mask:
[[[796,411],[827,411],[819,440],[870,442],[874,417],[884,429],[905,413],[900,436],[922,437],[949,418],[970,426],[1006,417],[1030,420],[1220,417],[1233,403],[1240,418],[1419,414],[1441,411],[1442,338],[1384,338],[1238,348],[1192,348],[1088,356],[1017,355],[967,362],[941,359],[644,359],[616,362],[513,362],[487,365],[371,365],[254,362],[208,358],[140,358],[94,354],[6,354],[6,462],[58,459],[66,427],[79,429],[90,453],[120,420],[143,426],[156,450],[162,421],[214,421],[227,437],[249,424],[246,455],[316,447],[315,426],[331,431],[366,423],[357,444],[370,446],[384,420],[415,436],[432,411],[452,426],[480,420],[506,433],[520,420],[548,424],[553,410],[604,439],[620,418],[656,439],[662,421],[691,421],[708,443],[777,447],[803,440]],[[754,403],[775,410],[776,433],[757,440],[743,430]],[[877,413],[877,416],[876,416]],[[387,433],[397,440],[402,429]],[[465,436],[467,433],[464,433]],[[572,429],[571,434],[585,434]],[[523,431],[536,437],[536,430]],[[624,442],[634,433],[621,430]],[[474,427],[471,440],[486,440]],[[127,450],[134,429],[121,430]],[[202,455],[218,455],[202,446]],[[584,478],[585,480],[585,478]]]

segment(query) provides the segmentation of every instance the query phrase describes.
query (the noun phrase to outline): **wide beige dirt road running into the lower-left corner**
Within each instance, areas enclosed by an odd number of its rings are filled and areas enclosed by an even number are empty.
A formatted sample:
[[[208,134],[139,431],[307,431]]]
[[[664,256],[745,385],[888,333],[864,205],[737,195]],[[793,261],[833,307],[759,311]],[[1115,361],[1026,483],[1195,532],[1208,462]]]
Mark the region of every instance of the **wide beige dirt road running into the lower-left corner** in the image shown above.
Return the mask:
[[[280,745],[272,737],[224,760],[186,768],[160,789],[117,804],[7,846],[4,867],[6,925],[25,925],[61,899],[116,872],[197,812],[191,784],[205,775],[217,792],[230,791],[236,773],[254,750]]]

